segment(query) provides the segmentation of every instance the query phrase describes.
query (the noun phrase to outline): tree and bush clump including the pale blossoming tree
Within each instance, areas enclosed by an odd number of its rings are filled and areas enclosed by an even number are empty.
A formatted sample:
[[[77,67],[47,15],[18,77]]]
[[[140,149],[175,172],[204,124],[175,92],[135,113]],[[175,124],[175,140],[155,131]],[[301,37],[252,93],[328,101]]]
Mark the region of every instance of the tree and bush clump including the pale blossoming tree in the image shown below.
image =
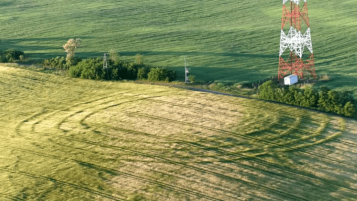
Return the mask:
[[[81,59],[75,57],[75,51],[80,47],[81,39],[69,39],[63,45],[67,57],[55,57],[45,59],[44,67],[53,67],[67,70],[70,77],[94,80],[122,80],[139,79],[149,81],[171,82],[176,79],[176,71],[164,67],[147,67],[143,63],[143,57],[137,54],[134,62],[123,62],[114,50],[109,51],[110,59],[108,67],[103,67],[103,58]]]

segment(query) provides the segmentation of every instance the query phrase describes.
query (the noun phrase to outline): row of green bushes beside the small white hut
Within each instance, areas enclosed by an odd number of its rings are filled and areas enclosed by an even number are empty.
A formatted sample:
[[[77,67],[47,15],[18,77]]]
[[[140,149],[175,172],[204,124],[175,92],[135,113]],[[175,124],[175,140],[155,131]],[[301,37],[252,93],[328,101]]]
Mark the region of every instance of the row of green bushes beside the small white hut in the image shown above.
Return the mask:
[[[272,81],[259,86],[259,98],[277,101],[306,108],[317,108],[326,112],[335,112],[345,116],[356,115],[356,100],[350,91],[333,91],[325,86],[319,90],[311,86],[300,89],[290,86],[289,89],[279,88]]]

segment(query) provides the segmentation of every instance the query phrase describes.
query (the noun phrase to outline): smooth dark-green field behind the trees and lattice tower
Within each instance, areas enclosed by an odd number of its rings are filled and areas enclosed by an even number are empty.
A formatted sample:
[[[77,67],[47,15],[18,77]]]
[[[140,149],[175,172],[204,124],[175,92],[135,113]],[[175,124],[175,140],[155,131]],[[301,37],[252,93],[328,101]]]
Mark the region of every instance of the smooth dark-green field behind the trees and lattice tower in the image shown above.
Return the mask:
[[[357,96],[357,0],[308,0],[308,8],[317,74]],[[197,80],[255,82],[277,73],[281,14],[282,0],[2,0],[0,49],[64,56],[62,45],[81,38],[81,57],[141,53],[183,80],[187,56]]]

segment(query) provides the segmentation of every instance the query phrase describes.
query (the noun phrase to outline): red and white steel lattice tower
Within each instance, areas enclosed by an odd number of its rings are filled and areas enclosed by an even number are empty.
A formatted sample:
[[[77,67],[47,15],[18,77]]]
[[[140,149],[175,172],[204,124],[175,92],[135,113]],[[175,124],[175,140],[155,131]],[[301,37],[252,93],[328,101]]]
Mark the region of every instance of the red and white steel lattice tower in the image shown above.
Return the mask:
[[[288,0],[283,0],[278,79],[283,78],[288,73],[303,78],[304,71],[310,72],[312,76],[316,78],[306,0],[304,0],[305,3],[302,7],[299,6],[300,0],[290,0],[290,6],[288,7],[285,5],[287,1]],[[284,27],[289,23],[290,30],[287,35],[284,32]],[[302,34],[301,28],[306,27],[305,23],[307,24],[307,29],[304,34]],[[282,55],[288,47],[290,49],[290,56],[287,60],[284,60]],[[305,47],[308,48],[311,55],[304,60],[303,52]]]

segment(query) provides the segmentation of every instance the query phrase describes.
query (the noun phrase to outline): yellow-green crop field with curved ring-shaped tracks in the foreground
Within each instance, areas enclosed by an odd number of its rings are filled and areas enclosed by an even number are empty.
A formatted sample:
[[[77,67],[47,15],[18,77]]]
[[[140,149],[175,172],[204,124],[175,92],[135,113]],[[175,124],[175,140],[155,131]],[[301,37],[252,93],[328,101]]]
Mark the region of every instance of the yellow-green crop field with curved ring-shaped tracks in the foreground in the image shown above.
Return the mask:
[[[0,67],[0,201],[352,201],[357,123]]]

